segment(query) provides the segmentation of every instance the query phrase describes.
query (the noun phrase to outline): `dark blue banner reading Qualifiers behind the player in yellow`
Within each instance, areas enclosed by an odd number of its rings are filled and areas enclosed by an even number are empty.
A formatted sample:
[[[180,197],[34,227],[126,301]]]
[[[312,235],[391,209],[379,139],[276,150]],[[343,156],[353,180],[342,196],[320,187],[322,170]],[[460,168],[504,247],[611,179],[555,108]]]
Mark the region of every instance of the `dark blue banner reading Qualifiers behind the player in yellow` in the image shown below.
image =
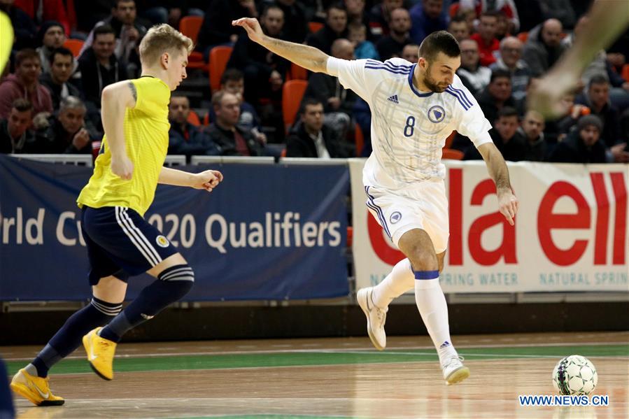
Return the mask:
[[[195,287],[186,300],[348,294],[346,166],[212,169],[225,176],[213,192],[160,185],[145,215],[195,269]],[[85,167],[0,156],[0,300],[91,296],[75,202],[91,174]],[[130,279],[127,299],[150,280]]]

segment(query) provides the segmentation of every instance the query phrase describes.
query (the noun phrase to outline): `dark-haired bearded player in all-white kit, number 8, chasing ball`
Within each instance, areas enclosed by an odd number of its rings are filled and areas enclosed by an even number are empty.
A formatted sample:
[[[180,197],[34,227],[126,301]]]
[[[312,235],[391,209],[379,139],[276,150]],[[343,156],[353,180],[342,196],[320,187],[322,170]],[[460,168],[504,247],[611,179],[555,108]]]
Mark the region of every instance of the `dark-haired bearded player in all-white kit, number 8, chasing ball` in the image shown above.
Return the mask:
[[[344,60],[307,45],[264,35],[252,18],[235,20],[252,41],[306,69],[337,76],[344,87],[365,99],[372,110],[372,155],[362,180],[367,207],[406,259],[375,287],[358,291],[374,346],[386,346],[388,304],[415,289],[415,300],[446,383],[465,380],[469,369],[452,345],[448,307],[439,285],[448,243],[448,202],[441,148],[453,130],[468,136],[496,184],[500,212],[514,224],[518,200],[509,172],[493,144],[490,123],[455,71],[460,66],[457,41],[446,31],[425,38],[419,60],[392,58]],[[358,197],[354,197],[358,199]]]

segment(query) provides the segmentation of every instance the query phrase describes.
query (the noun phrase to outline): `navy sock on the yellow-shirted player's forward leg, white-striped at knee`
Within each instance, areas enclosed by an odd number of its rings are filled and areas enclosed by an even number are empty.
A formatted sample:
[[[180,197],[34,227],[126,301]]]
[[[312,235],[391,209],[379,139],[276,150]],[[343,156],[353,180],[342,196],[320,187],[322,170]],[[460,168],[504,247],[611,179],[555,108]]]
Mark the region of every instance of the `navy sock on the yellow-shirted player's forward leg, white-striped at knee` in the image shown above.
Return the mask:
[[[171,303],[188,294],[195,282],[195,273],[188,264],[175,265],[164,269],[157,280],[144,288],[142,292],[115,316],[99,333],[104,339],[120,342],[130,329],[155,317]]]

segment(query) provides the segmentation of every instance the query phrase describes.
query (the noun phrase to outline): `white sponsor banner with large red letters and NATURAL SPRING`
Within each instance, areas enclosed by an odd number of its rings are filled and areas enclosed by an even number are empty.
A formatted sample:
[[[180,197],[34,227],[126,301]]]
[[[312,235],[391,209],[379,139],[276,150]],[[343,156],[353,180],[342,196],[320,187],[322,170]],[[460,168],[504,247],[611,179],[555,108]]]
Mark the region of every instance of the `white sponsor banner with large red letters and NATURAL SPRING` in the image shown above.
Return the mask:
[[[629,165],[509,163],[520,201],[511,227],[484,162],[444,162],[444,292],[629,291]],[[364,164],[350,160],[358,288],[379,283],[404,258],[367,211]]]

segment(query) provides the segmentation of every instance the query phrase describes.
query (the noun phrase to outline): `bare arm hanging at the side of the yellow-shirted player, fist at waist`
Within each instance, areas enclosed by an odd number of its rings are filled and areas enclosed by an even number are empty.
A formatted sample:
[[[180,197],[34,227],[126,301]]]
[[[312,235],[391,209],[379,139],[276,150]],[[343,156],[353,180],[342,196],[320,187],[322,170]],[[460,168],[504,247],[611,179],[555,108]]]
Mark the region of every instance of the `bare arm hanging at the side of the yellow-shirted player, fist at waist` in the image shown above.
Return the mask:
[[[125,112],[136,106],[136,87],[129,81],[121,81],[104,88],[101,97],[103,128],[111,152],[111,171],[120,178],[129,180],[133,174],[133,163],[127,156],[125,143]]]

